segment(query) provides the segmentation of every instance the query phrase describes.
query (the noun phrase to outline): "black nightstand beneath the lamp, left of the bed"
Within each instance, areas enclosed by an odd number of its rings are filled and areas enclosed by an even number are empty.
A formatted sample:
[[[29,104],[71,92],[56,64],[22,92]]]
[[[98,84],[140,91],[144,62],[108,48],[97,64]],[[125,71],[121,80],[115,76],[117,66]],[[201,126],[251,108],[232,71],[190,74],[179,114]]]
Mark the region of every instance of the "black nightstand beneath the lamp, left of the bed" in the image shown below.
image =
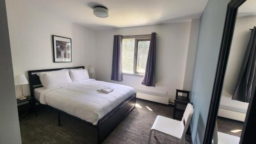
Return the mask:
[[[37,116],[35,99],[32,98],[30,95],[27,96],[27,99],[26,99],[26,100],[18,100],[18,99],[16,99],[16,101],[17,101],[17,104],[19,104],[19,105],[18,105],[18,108],[20,108],[21,110],[24,109],[24,110],[27,111],[28,108],[31,108],[31,107],[32,107],[33,111],[35,112],[35,115]],[[18,110],[19,110],[19,109],[18,109]],[[19,116],[20,116],[20,115],[19,115]]]

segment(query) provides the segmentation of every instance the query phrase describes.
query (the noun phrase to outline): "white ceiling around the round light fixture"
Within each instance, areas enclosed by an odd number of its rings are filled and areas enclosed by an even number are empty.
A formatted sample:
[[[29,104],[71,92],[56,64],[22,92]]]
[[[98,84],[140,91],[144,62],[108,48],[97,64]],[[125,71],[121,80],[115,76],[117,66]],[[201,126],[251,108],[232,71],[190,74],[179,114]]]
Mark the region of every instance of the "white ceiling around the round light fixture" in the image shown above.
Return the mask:
[[[33,0],[34,7],[94,30],[189,21],[199,18],[208,0]],[[109,17],[93,15],[102,5]]]

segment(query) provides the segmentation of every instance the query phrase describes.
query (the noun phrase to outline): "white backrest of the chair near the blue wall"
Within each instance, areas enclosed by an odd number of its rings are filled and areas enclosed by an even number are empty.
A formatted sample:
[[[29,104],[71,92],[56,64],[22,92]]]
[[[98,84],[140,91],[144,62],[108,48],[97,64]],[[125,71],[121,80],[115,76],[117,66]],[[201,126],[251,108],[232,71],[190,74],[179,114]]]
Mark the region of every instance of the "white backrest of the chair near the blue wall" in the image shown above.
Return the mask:
[[[184,126],[184,130],[183,130],[183,133],[182,133],[182,137],[185,136],[185,133],[187,131],[187,128],[188,128],[188,125],[191,121],[191,117],[193,115],[193,112],[194,112],[194,108],[191,104],[187,104],[187,107],[185,109],[185,112],[183,114],[183,117],[181,119],[181,122],[185,122],[185,126]]]

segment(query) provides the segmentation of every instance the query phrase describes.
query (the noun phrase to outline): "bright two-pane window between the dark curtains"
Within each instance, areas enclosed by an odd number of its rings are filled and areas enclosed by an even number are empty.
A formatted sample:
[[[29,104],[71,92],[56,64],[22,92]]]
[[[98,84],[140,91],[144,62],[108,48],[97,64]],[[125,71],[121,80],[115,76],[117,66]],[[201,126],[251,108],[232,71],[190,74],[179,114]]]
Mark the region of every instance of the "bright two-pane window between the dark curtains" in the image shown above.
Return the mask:
[[[145,74],[149,38],[123,38],[122,41],[122,70],[123,73]]]

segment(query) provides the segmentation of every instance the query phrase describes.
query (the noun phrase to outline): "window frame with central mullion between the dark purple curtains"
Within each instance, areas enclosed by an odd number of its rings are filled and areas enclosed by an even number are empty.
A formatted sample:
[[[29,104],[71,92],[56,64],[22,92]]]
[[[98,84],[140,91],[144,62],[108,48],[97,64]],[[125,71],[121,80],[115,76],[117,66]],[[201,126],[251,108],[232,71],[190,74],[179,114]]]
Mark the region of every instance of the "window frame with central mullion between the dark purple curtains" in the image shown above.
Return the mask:
[[[123,39],[131,39],[131,38],[123,38]],[[127,75],[133,75],[133,76],[139,76],[139,77],[143,77],[145,75],[145,73],[139,73],[137,72],[137,56],[138,56],[138,43],[139,41],[151,41],[150,37],[144,37],[144,38],[133,38],[134,39],[134,58],[133,58],[133,72],[129,73],[127,71],[125,71],[123,74],[127,74]]]

